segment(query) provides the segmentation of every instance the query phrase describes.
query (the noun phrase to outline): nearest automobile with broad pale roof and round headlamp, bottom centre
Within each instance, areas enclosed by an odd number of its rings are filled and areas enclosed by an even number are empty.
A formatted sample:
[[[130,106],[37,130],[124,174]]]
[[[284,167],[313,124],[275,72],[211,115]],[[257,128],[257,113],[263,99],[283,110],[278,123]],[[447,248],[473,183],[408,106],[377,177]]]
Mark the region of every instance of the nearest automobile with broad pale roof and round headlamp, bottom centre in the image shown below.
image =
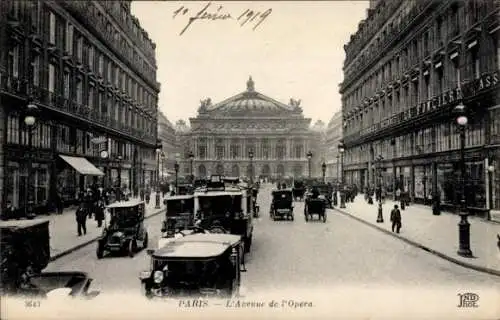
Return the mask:
[[[140,275],[149,298],[230,298],[239,295],[245,272],[242,239],[194,234],[148,250],[150,269]]]

